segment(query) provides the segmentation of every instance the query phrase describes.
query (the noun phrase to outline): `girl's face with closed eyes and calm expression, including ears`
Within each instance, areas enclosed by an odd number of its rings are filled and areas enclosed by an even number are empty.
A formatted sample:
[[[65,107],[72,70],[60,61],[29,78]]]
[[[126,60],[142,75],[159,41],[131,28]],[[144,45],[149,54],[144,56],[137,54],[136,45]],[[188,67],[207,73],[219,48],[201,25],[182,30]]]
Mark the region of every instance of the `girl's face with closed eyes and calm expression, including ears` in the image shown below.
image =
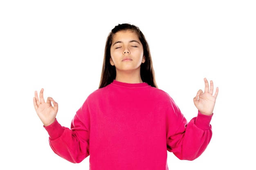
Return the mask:
[[[110,47],[110,64],[116,67],[117,73],[136,71],[145,62],[143,46],[136,33],[131,30],[115,33]]]

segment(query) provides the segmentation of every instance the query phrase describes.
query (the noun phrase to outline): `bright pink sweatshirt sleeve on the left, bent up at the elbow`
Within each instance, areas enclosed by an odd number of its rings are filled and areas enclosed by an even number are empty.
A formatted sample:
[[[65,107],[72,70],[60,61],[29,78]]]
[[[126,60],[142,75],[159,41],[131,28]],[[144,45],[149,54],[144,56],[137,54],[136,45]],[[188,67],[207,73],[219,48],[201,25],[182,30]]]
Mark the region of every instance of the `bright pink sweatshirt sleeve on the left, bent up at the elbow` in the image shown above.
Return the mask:
[[[71,128],[61,126],[57,120],[44,126],[49,134],[49,144],[58,156],[79,163],[89,156],[90,116],[87,104],[76,112]]]

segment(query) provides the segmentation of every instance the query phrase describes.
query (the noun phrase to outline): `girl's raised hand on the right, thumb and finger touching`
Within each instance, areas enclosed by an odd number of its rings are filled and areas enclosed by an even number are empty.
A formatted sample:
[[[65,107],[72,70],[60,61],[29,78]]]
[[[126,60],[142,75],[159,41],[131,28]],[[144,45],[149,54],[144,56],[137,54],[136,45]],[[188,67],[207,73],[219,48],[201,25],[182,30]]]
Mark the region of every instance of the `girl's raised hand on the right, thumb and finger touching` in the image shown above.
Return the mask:
[[[215,106],[219,88],[216,88],[216,92],[213,95],[213,81],[210,81],[210,90],[209,83],[206,78],[204,78],[204,84],[204,92],[200,89],[193,100],[195,107],[198,108],[200,113],[204,115],[211,115],[213,113],[213,108]]]

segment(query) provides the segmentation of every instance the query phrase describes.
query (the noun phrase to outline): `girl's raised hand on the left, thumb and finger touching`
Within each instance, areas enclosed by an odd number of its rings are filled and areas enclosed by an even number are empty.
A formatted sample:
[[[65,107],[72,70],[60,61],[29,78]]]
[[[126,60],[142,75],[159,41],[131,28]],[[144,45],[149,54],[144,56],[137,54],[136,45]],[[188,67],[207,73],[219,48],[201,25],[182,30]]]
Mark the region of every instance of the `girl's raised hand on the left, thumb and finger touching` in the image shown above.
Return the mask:
[[[33,98],[33,102],[36,113],[40,120],[43,122],[43,125],[49,126],[56,119],[56,115],[58,112],[58,103],[56,103],[52,97],[48,97],[45,103],[43,91],[44,89],[42,88],[39,94],[39,98],[37,91],[35,91],[35,97]]]

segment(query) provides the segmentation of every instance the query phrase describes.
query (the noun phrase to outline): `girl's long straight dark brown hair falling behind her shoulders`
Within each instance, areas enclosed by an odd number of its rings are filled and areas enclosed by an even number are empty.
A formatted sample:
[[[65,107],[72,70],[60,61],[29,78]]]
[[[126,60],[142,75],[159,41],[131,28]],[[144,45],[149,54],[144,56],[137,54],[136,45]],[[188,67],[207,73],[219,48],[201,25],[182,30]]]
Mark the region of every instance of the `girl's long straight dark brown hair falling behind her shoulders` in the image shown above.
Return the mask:
[[[155,72],[153,69],[152,59],[150,55],[149,45],[146,41],[145,36],[140,31],[139,27],[132,25],[132,24],[118,24],[111,30],[108,34],[108,38],[106,40],[105,45],[105,53],[104,53],[104,60],[101,72],[101,82],[99,84],[99,88],[103,88],[108,84],[112,83],[113,80],[116,78],[116,68],[110,64],[110,47],[112,45],[112,38],[118,31],[125,31],[131,30],[137,33],[139,40],[143,45],[143,52],[145,56],[145,62],[141,64],[140,67],[140,76],[143,82],[146,82],[148,85],[157,88],[157,84],[155,82]]]

